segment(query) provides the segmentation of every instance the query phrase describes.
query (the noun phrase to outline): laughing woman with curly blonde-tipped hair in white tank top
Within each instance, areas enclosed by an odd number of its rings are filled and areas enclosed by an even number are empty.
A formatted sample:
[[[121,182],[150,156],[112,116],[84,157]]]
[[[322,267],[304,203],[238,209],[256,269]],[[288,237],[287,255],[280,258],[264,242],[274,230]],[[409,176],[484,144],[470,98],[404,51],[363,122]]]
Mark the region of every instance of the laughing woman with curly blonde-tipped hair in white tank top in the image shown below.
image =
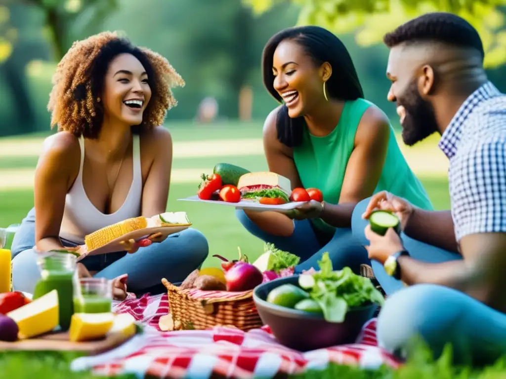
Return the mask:
[[[40,277],[36,251],[75,247],[104,226],[165,212],[173,143],[160,125],[177,104],[171,88],[185,83],[160,55],[104,32],[74,42],[53,84],[48,109],[58,132],[45,140],[34,208],[12,244],[13,286],[28,293]],[[192,228],[156,242],[86,257],[79,272],[128,274],[129,291],[153,294],[162,291],[162,277],[182,281],[208,254],[204,235]],[[115,297],[125,291],[115,280]]]

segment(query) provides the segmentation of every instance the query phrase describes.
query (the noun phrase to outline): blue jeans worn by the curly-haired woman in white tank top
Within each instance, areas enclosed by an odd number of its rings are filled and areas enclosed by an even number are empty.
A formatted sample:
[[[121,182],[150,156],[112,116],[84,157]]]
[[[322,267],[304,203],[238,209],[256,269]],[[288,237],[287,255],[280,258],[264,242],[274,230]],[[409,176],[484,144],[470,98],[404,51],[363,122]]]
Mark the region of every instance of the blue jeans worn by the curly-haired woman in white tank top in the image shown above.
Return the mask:
[[[76,246],[62,240],[64,246]],[[40,272],[36,264],[35,211],[32,209],[21,222],[12,242],[13,287],[15,291],[33,293]],[[171,234],[161,243],[139,248],[133,254],[117,252],[86,257],[80,261],[90,271],[98,271],[94,277],[113,279],[128,274],[128,291],[136,294],[162,293],[161,279],[172,283],[183,281],[199,268],[208,254],[205,236],[196,229],[186,229]]]

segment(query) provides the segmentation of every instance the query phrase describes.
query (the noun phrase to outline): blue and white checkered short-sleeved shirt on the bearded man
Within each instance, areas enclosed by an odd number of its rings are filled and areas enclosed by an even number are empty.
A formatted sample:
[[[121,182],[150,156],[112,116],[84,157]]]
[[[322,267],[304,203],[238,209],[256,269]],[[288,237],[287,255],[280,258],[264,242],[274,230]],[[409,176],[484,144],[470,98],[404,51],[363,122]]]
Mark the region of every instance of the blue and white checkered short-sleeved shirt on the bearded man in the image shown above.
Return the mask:
[[[439,148],[449,159],[457,242],[468,234],[506,232],[506,96],[483,84],[459,108]]]

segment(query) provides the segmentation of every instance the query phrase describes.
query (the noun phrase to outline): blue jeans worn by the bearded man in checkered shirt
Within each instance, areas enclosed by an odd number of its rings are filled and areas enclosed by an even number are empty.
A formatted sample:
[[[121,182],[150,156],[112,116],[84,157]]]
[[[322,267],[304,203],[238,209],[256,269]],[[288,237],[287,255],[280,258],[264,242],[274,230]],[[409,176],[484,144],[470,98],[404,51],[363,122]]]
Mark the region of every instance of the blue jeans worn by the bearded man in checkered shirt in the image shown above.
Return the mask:
[[[361,218],[369,200],[357,204],[352,216],[353,234],[362,245],[369,245],[364,236],[368,221]],[[462,259],[460,254],[413,240],[404,233],[401,239],[409,254],[420,261]],[[372,269],[388,294],[376,325],[380,346],[400,353],[417,336],[436,357],[446,343],[451,343],[458,363],[486,364],[506,354],[506,314],[451,288],[432,284],[404,287],[376,261]]]

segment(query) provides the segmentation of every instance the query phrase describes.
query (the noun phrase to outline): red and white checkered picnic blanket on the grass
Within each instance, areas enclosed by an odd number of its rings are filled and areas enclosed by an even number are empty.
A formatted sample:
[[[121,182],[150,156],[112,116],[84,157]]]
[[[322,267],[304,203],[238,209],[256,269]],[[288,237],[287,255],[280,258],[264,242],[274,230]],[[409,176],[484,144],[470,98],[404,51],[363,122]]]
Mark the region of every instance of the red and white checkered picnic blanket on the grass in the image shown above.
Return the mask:
[[[323,369],[330,362],[370,368],[400,365],[377,347],[375,319],[364,326],[355,344],[301,353],[279,344],[268,326],[247,333],[227,327],[161,332],[158,320],[168,312],[166,294],[128,298],[114,311],[130,313],[142,321],[145,334],[116,351],[79,358],[74,369],[91,368],[97,375],[134,373],[160,378],[269,378]]]

